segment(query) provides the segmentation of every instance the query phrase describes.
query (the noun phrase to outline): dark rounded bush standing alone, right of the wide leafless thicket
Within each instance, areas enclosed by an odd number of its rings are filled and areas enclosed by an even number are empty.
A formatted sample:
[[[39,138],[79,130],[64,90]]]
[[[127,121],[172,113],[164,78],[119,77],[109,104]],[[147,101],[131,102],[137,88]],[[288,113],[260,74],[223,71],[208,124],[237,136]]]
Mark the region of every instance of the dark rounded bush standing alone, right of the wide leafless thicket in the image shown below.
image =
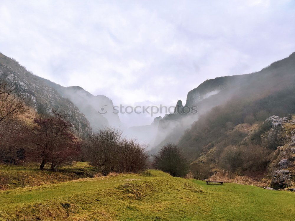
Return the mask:
[[[188,172],[189,161],[183,156],[178,146],[167,143],[154,156],[154,167],[174,177],[184,177]]]

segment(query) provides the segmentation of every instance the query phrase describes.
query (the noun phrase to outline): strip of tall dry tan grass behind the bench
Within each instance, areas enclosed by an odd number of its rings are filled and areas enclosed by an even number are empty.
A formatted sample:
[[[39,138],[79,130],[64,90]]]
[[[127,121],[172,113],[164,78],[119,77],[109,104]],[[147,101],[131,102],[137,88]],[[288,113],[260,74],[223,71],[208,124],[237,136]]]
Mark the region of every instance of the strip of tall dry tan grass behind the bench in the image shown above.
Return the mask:
[[[248,176],[240,176],[237,173],[231,173],[228,171],[218,171],[209,177],[208,180],[223,181],[226,183],[238,183],[245,185],[252,185],[257,187],[267,187],[269,185],[268,179],[251,178]]]

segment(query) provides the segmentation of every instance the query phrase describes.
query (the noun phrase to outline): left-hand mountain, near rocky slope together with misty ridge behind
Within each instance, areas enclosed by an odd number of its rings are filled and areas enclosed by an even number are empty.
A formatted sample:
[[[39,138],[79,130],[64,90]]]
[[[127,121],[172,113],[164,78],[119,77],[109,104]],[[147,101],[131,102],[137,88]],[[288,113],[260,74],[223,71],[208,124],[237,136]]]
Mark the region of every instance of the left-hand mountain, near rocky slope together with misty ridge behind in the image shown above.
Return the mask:
[[[86,136],[88,131],[97,131],[103,126],[120,125],[119,116],[112,113],[112,100],[106,96],[94,96],[79,86],[66,88],[38,77],[16,60],[1,53],[0,77],[25,93],[32,100],[32,107],[36,112],[42,109],[49,114],[53,110],[66,113],[81,137]],[[98,113],[101,108],[105,108],[107,113]]]

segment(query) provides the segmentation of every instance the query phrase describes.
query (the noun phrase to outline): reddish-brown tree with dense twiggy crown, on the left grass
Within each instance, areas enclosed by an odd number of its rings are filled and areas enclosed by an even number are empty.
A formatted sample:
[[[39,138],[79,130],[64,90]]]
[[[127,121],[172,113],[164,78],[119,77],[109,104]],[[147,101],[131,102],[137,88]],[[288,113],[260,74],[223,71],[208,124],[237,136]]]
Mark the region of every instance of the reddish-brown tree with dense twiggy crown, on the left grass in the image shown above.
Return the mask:
[[[30,138],[32,155],[40,161],[40,170],[46,163],[51,163],[51,170],[55,170],[64,163],[71,162],[80,153],[80,141],[72,133],[74,126],[65,121],[63,116],[34,119],[34,128]]]

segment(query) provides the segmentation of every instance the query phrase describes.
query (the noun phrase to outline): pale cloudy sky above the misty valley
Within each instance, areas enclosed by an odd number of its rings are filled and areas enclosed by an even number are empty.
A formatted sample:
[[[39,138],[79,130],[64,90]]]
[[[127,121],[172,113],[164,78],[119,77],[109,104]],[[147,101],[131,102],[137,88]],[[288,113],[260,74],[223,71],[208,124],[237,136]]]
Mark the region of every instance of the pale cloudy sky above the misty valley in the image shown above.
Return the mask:
[[[294,0],[0,0],[0,52],[117,106],[185,103],[204,80],[259,71],[294,51]],[[126,126],[154,117],[120,114]]]

